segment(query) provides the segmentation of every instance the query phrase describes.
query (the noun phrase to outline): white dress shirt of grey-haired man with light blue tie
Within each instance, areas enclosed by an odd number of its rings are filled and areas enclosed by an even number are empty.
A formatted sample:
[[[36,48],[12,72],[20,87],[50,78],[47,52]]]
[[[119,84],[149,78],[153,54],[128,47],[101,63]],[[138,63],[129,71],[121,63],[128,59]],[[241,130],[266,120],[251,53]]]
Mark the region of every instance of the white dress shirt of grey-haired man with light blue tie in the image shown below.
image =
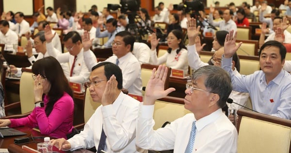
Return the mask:
[[[184,153],[187,147],[193,113],[172,121],[164,128],[153,130],[154,105],[140,104],[136,145],[148,150],[171,150]],[[196,134],[192,153],[236,153],[238,133],[221,109],[196,121]]]

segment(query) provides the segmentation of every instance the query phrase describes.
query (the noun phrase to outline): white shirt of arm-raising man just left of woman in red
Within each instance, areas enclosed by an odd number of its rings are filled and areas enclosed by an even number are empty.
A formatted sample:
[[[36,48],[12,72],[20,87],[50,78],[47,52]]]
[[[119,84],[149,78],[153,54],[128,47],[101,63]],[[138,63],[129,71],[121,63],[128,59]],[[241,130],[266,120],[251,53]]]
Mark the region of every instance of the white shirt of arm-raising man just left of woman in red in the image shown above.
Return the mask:
[[[222,30],[225,30],[227,32],[229,32],[231,30],[233,30],[234,32],[237,31],[237,25],[232,19],[229,19],[227,22],[226,22],[226,20],[221,20],[221,21],[215,22],[215,21],[213,21],[213,14],[210,13],[209,14],[209,21],[210,21],[210,24],[212,24],[214,27],[219,27],[220,31],[222,31]]]

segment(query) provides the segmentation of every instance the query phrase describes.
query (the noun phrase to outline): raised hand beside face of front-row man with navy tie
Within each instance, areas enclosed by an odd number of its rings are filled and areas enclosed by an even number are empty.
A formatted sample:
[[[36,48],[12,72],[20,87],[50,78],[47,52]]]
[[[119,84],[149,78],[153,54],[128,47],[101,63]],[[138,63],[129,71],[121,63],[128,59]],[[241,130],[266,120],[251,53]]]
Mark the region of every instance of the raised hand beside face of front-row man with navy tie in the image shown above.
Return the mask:
[[[116,89],[117,89],[117,81],[116,77],[112,75],[107,81],[105,90],[102,95],[101,103],[103,106],[112,104],[114,100],[117,98],[118,94],[116,94]]]

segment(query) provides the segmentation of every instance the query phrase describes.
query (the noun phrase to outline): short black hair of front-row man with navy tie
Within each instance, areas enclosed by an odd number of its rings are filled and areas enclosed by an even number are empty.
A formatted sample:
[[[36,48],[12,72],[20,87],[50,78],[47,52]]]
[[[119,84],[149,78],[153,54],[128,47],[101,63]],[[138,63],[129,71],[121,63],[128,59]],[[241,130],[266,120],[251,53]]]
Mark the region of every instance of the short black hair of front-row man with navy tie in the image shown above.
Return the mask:
[[[94,66],[92,68],[92,71],[94,69],[102,67],[102,66],[104,66],[104,73],[105,73],[104,75],[106,76],[107,81],[114,74],[114,76],[116,77],[116,81],[117,81],[117,88],[122,89],[123,78],[122,78],[121,69],[117,65],[115,65],[111,62],[101,62],[101,63],[98,63],[96,66]]]

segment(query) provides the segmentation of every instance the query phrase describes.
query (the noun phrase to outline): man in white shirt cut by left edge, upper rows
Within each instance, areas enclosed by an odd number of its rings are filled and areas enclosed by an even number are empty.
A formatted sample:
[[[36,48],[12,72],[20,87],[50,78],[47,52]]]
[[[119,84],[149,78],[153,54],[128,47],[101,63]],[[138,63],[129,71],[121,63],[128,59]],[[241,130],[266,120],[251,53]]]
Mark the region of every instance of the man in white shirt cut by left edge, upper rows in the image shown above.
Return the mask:
[[[9,29],[9,23],[6,20],[0,20],[0,44],[5,44],[5,50],[13,49],[13,45],[18,45],[18,35]]]

